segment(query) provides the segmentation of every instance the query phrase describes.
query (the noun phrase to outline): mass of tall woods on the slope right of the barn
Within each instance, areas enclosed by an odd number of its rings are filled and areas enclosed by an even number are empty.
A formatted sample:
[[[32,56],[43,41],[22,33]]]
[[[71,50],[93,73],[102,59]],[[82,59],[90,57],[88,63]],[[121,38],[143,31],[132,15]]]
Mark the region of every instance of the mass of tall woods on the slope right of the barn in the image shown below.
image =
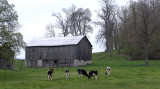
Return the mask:
[[[105,42],[110,56],[112,49],[118,49],[132,59],[145,59],[148,66],[149,59],[160,58],[159,12],[160,0],[130,0],[119,8],[113,0],[101,0],[94,22],[100,26],[97,41]]]

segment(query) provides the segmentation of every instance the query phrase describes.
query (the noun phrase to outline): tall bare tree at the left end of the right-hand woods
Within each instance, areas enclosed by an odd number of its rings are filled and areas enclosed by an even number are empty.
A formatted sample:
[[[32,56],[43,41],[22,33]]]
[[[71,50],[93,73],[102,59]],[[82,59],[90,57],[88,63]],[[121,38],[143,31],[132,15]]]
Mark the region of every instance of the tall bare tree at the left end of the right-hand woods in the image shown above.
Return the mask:
[[[102,8],[100,12],[97,12],[99,21],[96,21],[95,24],[101,27],[97,40],[100,41],[104,39],[106,41],[106,49],[109,51],[111,56],[111,50],[113,49],[113,36],[114,30],[117,30],[117,19],[115,6],[113,5],[113,0],[102,0]]]

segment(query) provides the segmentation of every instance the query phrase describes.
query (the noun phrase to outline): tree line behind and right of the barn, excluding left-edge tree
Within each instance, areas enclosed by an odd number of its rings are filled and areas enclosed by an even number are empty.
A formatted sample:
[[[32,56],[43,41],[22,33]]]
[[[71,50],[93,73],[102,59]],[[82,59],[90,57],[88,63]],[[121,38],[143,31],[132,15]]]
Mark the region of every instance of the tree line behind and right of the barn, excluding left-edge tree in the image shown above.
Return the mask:
[[[63,8],[63,13],[53,13],[56,24],[49,24],[47,36],[55,36],[61,29],[62,36],[78,36],[92,33],[95,24],[99,27],[97,42],[103,42],[106,51],[116,49],[132,59],[160,58],[160,0],[130,0],[118,7],[114,0],[100,0],[101,8],[96,11],[98,19],[91,21],[91,11],[72,6]]]

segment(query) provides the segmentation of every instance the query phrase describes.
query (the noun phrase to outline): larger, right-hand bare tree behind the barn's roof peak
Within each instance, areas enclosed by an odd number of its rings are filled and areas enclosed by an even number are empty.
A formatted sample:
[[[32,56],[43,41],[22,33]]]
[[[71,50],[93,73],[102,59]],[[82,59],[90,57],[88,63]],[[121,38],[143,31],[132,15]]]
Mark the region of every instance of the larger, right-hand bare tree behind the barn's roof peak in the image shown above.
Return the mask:
[[[66,10],[67,11],[67,10]],[[89,9],[78,8],[73,5],[69,10],[70,13],[70,33],[73,36],[86,35],[92,33],[91,11]]]

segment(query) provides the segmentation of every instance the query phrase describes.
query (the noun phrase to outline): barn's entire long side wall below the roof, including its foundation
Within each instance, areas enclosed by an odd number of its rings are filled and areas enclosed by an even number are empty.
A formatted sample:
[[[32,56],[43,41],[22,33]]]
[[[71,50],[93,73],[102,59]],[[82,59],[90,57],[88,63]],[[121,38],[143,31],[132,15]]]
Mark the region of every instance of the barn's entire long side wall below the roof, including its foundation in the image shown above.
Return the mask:
[[[63,67],[73,66],[76,58],[76,46],[27,47],[28,67]],[[36,62],[35,62],[36,61]],[[40,62],[42,61],[42,65]],[[34,63],[31,63],[34,62]],[[37,63],[37,64],[36,64]]]

